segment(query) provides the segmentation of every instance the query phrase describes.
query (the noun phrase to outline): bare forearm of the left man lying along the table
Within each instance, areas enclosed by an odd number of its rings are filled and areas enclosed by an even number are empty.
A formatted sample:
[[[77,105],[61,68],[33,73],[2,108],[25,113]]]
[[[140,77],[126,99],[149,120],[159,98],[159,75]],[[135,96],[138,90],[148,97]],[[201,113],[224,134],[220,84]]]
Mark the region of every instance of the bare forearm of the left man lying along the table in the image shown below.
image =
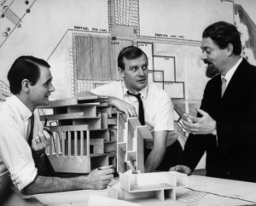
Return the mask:
[[[24,188],[27,195],[48,192],[64,192],[71,190],[86,189],[86,176],[60,178],[37,176],[32,183]]]

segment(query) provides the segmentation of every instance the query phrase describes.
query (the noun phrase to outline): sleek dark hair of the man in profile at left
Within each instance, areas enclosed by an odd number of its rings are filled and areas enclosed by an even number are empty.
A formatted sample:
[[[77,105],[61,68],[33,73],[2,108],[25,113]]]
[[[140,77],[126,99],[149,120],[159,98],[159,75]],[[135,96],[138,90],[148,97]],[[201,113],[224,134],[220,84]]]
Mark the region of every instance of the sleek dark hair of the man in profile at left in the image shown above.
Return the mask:
[[[20,56],[11,66],[7,78],[12,94],[19,94],[21,90],[21,82],[27,79],[34,85],[40,77],[39,66],[49,68],[49,64],[45,60],[38,59],[33,56]]]

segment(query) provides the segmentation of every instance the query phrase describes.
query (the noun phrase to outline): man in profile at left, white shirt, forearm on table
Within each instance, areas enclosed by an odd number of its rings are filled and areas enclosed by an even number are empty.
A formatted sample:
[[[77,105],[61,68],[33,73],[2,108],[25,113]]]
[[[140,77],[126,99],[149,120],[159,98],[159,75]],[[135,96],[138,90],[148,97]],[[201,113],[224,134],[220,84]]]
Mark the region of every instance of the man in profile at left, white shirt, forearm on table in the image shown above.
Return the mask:
[[[49,104],[49,95],[55,90],[49,64],[32,56],[20,56],[11,66],[8,80],[14,95],[0,108],[0,200],[10,183],[26,194],[106,188],[113,178],[113,169],[60,178],[40,175],[35,166],[34,155],[44,157],[50,135],[36,115],[32,130],[30,117],[37,106]],[[28,136],[32,137],[31,146]]]

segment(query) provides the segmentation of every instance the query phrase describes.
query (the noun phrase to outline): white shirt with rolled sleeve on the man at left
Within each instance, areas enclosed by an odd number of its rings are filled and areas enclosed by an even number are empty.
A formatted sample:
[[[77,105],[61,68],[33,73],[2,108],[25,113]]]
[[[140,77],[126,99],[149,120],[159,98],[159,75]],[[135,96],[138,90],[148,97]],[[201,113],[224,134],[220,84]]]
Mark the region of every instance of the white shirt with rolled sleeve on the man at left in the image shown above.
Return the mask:
[[[20,191],[38,174],[27,144],[28,119],[32,112],[15,96],[0,106],[0,191],[9,180]],[[35,113],[34,135],[43,126]]]

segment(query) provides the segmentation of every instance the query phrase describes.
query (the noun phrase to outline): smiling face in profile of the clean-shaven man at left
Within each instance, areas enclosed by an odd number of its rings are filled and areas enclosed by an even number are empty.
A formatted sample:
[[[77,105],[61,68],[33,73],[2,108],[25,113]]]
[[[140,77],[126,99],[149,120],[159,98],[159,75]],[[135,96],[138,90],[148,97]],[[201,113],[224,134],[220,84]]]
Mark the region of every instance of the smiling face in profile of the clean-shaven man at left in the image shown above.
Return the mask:
[[[52,76],[49,68],[39,66],[40,77],[38,82],[30,86],[30,101],[33,106],[44,106],[49,104],[49,95],[55,90],[51,83]]]

